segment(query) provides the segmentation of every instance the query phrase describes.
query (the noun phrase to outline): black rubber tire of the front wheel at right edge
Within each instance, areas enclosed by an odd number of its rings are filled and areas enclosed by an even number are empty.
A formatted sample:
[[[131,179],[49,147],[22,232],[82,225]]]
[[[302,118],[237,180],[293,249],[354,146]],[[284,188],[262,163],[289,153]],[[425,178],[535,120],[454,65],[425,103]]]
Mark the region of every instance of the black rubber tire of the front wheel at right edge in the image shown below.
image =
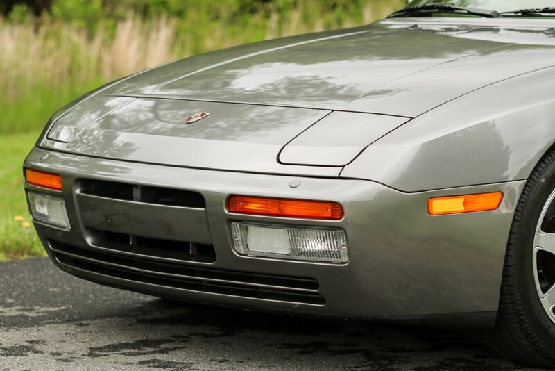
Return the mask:
[[[506,249],[495,327],[481,333],[484,345],[500,356],[546,368],[555,368],[555,323],[540,303],[532,259],[540,213],[554,189],[555,145],[522,190]]]

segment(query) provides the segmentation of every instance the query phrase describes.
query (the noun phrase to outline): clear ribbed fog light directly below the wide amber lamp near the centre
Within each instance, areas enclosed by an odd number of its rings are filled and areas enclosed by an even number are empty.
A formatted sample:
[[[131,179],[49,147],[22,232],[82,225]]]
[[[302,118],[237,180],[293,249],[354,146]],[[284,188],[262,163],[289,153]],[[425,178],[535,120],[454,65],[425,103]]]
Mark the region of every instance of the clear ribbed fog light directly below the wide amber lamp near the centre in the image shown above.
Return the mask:
[[[239,254],[304,261],[347,263],[345,231],[232,222],[234,248]]]

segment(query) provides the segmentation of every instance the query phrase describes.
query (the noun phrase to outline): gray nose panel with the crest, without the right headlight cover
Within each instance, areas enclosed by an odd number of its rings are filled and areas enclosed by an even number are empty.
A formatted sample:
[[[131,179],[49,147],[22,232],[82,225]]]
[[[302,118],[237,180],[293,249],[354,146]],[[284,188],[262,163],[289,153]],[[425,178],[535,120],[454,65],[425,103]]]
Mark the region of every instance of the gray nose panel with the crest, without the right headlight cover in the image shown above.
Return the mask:
[[[101,97],[95,98],[82,105],[98,110]],[[111,99],[117,98],[103,99],[108,106]],[[201,122],[185,124],[189,113],[196,112],[210,112],[210,116]],[[74,140],[50,140],[44,145],[59,151],[143,163],[311,174],[310,170],[303,172],[282,166],[276,158],[285,143],[329,113],[315,109],[137,98],[81,128]],[[65,124],[64,119],[55,127]],[[338,176],[340,170],[341,167],[320,167],[313,174]]]

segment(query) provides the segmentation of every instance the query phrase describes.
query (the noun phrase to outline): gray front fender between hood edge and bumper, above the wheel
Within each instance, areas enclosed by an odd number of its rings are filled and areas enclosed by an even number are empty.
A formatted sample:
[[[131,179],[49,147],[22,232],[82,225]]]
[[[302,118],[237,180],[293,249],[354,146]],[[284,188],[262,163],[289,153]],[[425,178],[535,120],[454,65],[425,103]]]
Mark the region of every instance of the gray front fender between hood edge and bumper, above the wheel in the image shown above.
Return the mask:
[[[404,192],[527,179],[555,143],[553,81],[548,67],[447,101],[370,145],[341,177]]]

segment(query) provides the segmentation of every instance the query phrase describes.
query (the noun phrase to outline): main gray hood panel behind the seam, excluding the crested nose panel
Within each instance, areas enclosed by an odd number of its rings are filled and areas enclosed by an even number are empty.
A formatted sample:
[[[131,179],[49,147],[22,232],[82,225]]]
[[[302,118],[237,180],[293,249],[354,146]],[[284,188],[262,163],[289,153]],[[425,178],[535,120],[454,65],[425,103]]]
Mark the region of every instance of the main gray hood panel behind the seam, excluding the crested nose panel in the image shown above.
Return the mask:
[[[415,117],[484,85],[553,65],[553,27],[542,19],[386,19],[187,58],[103,94]]]

